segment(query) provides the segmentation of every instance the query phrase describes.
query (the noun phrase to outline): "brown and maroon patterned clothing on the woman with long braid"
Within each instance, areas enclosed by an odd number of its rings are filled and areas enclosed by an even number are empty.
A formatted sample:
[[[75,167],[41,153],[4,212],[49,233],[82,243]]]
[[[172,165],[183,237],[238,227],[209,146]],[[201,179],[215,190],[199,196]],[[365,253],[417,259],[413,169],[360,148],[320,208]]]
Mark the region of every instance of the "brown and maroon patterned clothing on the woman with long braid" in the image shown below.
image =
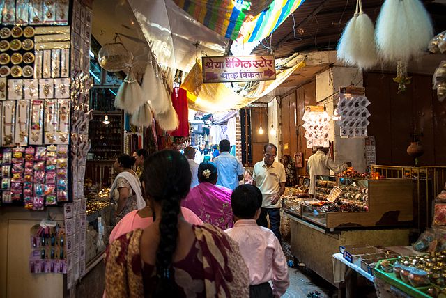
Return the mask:
[[[238,249],[238,244],[212,225],[192,226],[197,245],[193,256],[202,266],[204,289],[202,295],[194,292],[197,282],[178,283],[185,297],[249,297],[249,272]],[[144,267],[142,265],[139,243],[143,230],[138,229],[122,235],[107,249],[105,258],[105,292],[107,298],[144,297]],[[190,254],[191,255],[191,254]],[[174,263],[175,275],[180,272]],[[184,270],[183,270],[184,271]],[[185,272],[181,272],[183,275]],[[180,276],[181,277],[181,276]],[[183,277],[181,279],[184,280]]]

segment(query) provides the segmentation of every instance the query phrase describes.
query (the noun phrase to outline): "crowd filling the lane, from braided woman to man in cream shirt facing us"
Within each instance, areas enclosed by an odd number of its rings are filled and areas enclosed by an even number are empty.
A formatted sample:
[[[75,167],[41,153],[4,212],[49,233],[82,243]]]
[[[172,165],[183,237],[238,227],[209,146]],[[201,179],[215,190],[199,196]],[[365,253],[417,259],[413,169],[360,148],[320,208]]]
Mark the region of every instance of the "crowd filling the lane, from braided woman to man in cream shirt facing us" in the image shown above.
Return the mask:
[[[107,249],[105,297],[284,295],[279,198],[286,179],[277,148],[265,146],[253,185],[239,185],[245,169],[229,154],[229,141],[219,148],[213,162],[200,164],[192,147],[184,155],[163,150],[118,158],[121,221]],[[140,184],[131,170],[138,157]]]

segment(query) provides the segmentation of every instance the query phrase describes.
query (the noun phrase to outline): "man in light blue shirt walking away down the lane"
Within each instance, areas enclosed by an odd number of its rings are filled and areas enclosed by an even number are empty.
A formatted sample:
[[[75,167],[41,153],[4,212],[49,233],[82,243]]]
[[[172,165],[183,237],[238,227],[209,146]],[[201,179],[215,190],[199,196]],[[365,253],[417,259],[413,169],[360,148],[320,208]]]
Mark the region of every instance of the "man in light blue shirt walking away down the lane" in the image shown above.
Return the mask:
[[[214,163],[217,166],[217,185],[222,185],[231,190],[238,187],[238,182],[243,179],[245,168],[237,157],[229,153],[231,143],[228,140],[220,141],[220,155],[215,157]]]

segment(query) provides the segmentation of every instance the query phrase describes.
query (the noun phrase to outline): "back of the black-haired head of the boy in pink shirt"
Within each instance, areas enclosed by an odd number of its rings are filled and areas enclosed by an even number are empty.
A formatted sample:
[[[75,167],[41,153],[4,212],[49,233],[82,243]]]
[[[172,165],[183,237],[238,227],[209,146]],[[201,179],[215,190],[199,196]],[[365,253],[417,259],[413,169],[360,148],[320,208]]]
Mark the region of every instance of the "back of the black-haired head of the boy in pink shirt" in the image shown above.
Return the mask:
[[[254,219],[261,206],[262,193],[254,185],[239,185],[232,192],[232,212],[238,219]]]

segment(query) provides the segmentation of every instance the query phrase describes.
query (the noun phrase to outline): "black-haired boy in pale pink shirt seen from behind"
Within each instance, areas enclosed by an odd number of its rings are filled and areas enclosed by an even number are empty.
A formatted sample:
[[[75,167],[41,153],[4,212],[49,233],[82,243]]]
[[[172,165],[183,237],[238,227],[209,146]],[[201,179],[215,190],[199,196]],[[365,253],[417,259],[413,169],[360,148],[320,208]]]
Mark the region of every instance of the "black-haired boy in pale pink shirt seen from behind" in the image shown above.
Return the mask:
[[[280,297],[289,287],[288,266],[277,237],[271,230],[256,223],[261,205],[262,194],[257,187],[237,187],[231,195],[236,223],[224,232],[240,246],[240,253],[249,270],[249,297]]]

